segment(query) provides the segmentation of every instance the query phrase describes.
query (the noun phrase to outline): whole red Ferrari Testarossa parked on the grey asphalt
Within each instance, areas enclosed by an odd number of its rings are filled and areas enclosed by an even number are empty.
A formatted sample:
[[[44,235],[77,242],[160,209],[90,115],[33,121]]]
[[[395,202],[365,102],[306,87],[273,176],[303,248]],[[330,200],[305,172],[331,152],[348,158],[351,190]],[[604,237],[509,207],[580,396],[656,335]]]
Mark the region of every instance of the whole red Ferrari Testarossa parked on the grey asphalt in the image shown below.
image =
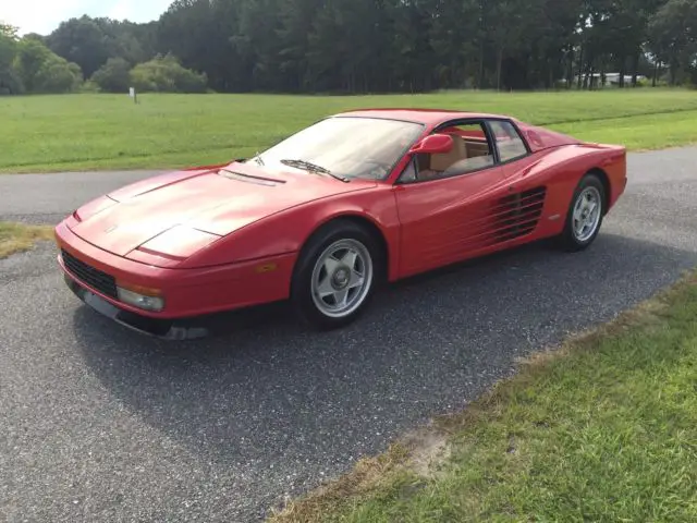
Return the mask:
[[[170,339],[209,313],[290,299],[334,328],[376,285],[523,243],[587,247],[626,185],[626,151],[514,118],[335,114],[254,158],[139,181],[56,228],[85,303]]]

